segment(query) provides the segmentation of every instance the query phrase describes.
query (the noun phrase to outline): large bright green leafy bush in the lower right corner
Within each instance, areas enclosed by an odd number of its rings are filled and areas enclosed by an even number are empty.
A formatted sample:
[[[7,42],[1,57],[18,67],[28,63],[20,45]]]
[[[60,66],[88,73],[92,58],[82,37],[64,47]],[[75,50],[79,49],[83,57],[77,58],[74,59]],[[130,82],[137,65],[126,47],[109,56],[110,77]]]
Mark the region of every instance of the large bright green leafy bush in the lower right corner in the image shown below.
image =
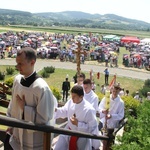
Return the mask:
[[[120,145],[114,145],[113,150],[149,150],[150,149],[150,101],[144,101],[137,108],[137,118],[130,116],[125,126]]]

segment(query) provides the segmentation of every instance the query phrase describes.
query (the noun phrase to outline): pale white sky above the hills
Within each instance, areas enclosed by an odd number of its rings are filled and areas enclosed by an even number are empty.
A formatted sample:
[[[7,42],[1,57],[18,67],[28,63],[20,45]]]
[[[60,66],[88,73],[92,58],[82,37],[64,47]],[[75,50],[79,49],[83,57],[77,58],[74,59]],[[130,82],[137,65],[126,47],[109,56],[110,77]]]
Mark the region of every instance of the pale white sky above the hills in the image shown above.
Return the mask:
[[[150,23],[150,0],[0,0],[1,9],[34,12],[82,11],[116,14]]]

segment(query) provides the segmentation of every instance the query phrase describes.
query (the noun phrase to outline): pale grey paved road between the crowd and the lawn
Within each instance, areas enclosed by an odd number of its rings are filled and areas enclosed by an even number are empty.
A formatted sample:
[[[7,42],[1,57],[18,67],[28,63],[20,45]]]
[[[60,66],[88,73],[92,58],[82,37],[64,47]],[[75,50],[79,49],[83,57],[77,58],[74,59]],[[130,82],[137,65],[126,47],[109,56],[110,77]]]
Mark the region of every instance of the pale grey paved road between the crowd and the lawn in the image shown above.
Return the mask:
[[[15,65],[14,58],[8,59],[0,59],[0,65]],[[36,62],[36,70],[39,71],[43,67],[46,66],[54,66],[55,68],[61,69],[73,69],[76,70],[76,64],[72,62],[60,62],[59,60],[52,59],[38,59]],[[97,62],[85,62],[85,64],[81,64],[81,70],[89,72],[93,69],[94,72],[104,73],[105,66],[103,64],[98,64]],[[144,69],[137,68],[125,68],[120,66],[118,68],[109,68],[111,75],[117,75],[122,77],[128,77],[133,79],[146,80],[150,79],[150,71],[146,71]]]

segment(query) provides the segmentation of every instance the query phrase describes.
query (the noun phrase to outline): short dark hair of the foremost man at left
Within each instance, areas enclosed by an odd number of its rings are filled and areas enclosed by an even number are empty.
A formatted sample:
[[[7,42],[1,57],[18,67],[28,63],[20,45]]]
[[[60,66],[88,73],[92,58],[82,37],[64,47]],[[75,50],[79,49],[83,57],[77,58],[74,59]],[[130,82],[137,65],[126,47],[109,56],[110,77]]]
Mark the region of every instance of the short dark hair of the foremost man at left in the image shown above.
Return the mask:
[[[27,60],[35,60],[36,61],[36,57],[37,57],[37,53],[36,51],[31,48],[31,47],[24,47],[21,50],[18,50],[17,52],[17,56],[20,56],[22,53],[25,54]]]

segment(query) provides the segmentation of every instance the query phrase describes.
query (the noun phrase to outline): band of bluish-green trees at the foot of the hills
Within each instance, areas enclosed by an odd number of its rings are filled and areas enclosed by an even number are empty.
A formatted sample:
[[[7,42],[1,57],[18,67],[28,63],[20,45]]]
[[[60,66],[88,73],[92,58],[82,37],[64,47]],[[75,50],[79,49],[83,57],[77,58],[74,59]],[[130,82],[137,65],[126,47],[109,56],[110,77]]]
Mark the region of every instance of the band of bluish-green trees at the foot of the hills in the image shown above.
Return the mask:
[[[81,22],[80,22],[81,21]],[[107,24],[104,22],[91,22],[86,23],[86,21],[78,20],[71,21],[71,22],[58,22],[58,21],[48,21],[42,19],[31,19],[28,18],[19,18],[19,17],[12,17],[9,19],[5,19],[4,17],[0,16],[0,25],[30,25],[30,26],[68,26],[68,27],[79,27],[79,28],[100,28],[100,29],[112,29],[112,30],[137,30],[137,31],[150,31],[150,28],[143,28],[139,29],[134,25],[124,25],[124,24]]]

